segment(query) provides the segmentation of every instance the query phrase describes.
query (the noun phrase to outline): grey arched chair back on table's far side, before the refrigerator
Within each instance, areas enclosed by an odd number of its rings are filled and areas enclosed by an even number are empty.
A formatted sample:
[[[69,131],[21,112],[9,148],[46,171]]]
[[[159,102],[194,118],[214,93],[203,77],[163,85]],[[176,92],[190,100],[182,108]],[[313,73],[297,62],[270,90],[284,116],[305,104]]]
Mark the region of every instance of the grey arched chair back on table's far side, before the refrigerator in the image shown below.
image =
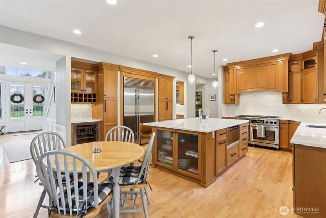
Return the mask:
[[[125,141],[134,143],[134,133],[129,127],[116,126],[107,132],[105,141]]]

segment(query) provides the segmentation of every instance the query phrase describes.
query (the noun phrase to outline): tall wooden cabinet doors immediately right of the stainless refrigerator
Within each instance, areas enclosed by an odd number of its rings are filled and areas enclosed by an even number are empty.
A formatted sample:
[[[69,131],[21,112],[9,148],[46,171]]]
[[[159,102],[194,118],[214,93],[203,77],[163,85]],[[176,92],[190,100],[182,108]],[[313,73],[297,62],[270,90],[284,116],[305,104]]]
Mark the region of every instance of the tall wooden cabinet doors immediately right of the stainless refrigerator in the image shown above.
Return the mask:
[[[172,80],[158,79],[158,121],[172,119]]]

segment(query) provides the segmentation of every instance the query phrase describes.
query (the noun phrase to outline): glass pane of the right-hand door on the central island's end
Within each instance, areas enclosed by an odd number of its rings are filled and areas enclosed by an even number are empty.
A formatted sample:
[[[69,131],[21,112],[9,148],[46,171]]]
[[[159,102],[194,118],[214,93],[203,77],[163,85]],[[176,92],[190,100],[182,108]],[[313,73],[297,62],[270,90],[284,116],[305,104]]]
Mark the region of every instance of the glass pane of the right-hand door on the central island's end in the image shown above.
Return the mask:
[[[178,133],[178,169],[198,175],[198,135]]]

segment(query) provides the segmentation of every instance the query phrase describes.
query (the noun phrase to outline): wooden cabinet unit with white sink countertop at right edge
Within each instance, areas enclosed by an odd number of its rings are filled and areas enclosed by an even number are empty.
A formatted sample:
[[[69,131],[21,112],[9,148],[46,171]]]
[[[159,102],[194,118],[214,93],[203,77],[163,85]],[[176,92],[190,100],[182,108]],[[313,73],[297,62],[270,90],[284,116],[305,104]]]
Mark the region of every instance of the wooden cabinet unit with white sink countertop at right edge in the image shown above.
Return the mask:
[[[302,122],[291,143],[294,213],[326,217],[326,124]]]

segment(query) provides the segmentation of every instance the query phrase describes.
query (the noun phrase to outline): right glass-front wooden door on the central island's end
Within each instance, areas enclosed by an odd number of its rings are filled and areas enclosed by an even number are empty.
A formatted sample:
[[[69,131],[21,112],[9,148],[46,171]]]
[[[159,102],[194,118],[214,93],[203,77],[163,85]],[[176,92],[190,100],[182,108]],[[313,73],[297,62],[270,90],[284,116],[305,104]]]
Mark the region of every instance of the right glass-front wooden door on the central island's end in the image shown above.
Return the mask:
[[[200,135],[178,132],[176,137],[177,172],[189,177],[200,176]]]

